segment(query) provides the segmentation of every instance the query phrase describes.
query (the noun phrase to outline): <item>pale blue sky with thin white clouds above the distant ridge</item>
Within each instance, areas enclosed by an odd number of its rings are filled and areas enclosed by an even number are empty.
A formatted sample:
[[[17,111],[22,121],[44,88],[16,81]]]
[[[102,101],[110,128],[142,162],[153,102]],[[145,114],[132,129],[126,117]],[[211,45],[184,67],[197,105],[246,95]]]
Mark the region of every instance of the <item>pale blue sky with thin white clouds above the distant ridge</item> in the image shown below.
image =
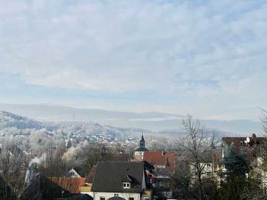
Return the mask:
[[[0,7],[0,103],[254,119],[266,0],[18,0]]]

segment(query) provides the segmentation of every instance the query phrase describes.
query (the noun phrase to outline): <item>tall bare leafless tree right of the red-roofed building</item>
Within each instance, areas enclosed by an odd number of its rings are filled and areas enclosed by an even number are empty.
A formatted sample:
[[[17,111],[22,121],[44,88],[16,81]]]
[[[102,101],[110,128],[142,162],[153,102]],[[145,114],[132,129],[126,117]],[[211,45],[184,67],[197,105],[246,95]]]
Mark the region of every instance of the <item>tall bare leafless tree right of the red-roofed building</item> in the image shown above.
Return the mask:
[[[182,120],[181,128],[185,134],[176,142],[177,151],[181,162],[188,166],[189,176],[184,180],[187,185],[183,189],[197,200],[210,199],[210,189],[215,183],[212,156],[218,143],[216,135],[191,115]]]

